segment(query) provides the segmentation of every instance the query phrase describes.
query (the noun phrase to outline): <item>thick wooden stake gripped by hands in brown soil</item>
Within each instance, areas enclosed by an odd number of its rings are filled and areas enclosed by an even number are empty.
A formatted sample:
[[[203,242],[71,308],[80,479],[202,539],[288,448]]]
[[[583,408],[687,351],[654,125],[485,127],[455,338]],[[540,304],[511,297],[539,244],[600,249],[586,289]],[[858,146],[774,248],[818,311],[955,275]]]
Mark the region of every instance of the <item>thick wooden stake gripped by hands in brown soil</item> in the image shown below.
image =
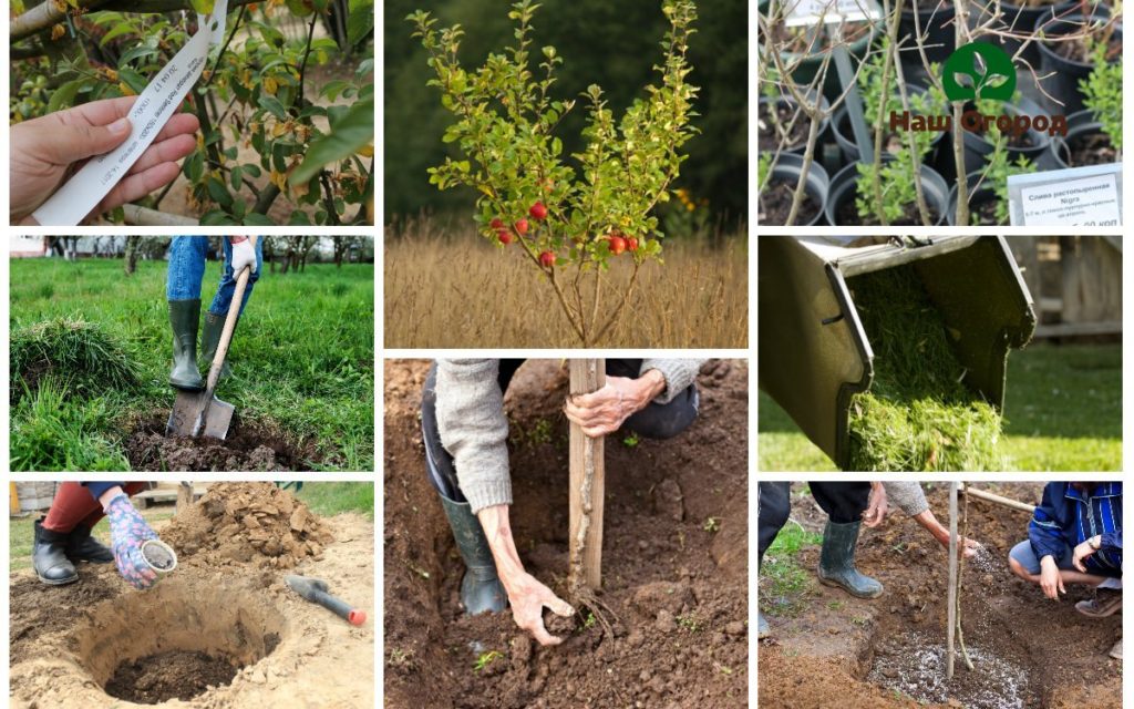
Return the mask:
[[[570,360],[570,395],[590,394],[607,383],[604,360]],[[602,585],[602,499],[606,489],[603,439],[570,424],[570,568],[573,600]]]

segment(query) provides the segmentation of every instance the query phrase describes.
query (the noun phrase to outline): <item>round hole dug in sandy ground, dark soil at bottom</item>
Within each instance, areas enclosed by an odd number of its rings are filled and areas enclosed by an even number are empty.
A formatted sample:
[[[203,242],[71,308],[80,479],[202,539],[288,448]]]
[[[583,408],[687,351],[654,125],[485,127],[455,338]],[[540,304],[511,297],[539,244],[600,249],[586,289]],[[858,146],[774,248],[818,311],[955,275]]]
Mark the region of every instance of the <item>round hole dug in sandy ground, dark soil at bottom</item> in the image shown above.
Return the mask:
[[[158,704],[228,685],[271,655],[286,625],[249,593],[171,579],[95,606],[74,640],[79,664],[108,694]]]

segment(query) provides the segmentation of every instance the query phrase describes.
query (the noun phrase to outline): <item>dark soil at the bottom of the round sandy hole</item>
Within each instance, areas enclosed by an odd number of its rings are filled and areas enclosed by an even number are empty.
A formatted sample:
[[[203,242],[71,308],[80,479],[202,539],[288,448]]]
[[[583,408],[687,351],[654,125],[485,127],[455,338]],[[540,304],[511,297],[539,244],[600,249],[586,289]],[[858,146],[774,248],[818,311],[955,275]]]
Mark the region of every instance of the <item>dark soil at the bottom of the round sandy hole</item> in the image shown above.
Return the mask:
[[[223,686],[237,668],[226,658],[174,650],[124,662],[107,682],[107,694],[139,704],[189,700],[211,686]]]

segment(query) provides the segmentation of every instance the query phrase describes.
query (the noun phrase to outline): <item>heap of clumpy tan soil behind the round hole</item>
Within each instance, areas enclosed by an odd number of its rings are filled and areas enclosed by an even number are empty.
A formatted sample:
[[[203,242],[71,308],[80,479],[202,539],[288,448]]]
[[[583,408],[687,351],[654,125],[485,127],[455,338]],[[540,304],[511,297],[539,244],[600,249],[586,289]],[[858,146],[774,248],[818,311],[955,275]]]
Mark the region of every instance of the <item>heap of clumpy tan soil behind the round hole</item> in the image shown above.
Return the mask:
[[[290,492],[270,482],[226,482],[179,512],[162,541],[181,557],[204,555],[210,564],[291,568],[318,558],[335,537]]]

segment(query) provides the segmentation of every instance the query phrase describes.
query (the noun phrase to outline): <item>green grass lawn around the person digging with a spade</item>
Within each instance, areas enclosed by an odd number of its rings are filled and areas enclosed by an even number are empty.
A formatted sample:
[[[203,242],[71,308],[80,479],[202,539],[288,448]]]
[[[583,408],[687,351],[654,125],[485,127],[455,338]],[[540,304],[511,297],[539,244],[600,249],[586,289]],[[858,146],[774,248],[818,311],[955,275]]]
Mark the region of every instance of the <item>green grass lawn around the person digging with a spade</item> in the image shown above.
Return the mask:
[[[12,372],[12,469],[128,470],[120,444],[130,423],[163,419],[175,396],[167,383],[172,344],[166,263],[143,261],[130,278],[121,260],[10,265],[14,337],[51,319],[83,320],[108,336],[138,374],[134,386],[111,386],[84,379],[83,371],[50,371],[24,396]],[[219,277],[220,264],[210,263],[202,310]],[[281,430],[296,444],[313,441],[319,462],[312,470],[374,469],[372,265],[312,264],[287,276],[265,267],[228,361],[234,375],[218,394],[240,417]]]

